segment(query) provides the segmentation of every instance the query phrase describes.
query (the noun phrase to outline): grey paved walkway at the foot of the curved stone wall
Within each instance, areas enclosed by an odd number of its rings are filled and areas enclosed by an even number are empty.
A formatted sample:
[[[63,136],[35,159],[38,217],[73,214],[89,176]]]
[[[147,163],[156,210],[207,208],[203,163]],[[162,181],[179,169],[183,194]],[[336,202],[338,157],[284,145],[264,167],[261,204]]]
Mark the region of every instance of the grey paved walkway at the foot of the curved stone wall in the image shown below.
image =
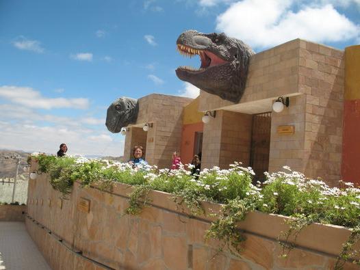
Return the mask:
[[[0,221],[0,270],[51,270],[25,223]]]

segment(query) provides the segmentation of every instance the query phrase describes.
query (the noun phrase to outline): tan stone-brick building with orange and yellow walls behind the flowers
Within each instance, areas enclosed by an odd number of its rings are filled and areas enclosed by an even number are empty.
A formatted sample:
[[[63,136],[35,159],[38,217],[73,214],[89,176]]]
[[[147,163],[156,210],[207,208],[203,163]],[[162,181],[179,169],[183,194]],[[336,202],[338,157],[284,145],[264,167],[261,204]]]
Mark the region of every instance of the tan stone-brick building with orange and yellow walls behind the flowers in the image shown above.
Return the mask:
[[[241,161],[259,180],[288,165],[329,185],[360,183],[359,75],[359,45],[341,51],[292,40],[251,57],[239,103],[203,91],[195,100],[140,98],[138,120],[127,126],[125,160],[140,144],[146,160],[159,167],[170,167],[171,153],[181,150],[183,163],[201,152],[202,168]],[[287,98],[288,107],[272,110]],[[211,115],[207,124],[204,113]]]

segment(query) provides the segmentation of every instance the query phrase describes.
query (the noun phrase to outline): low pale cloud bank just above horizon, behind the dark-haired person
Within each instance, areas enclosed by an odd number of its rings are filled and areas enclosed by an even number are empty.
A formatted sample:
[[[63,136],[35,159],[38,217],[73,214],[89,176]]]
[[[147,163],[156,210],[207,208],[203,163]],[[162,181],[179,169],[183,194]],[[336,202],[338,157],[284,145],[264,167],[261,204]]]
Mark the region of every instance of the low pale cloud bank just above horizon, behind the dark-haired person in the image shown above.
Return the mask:
[[[68,145],[68,154],[112,155],[124,151],[124,139],[119,134],[105,134],[105,129],[36,124],[10,124],[0,121],[0,148],[47,152],[55,154],[61,143]]]

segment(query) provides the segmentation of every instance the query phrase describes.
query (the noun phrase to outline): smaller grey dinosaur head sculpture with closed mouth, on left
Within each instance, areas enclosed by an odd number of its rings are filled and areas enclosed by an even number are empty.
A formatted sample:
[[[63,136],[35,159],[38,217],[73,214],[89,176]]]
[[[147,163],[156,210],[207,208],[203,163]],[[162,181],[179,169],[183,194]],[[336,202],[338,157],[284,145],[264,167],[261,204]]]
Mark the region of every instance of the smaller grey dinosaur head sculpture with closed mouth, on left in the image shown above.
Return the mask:
[[[123,126],[136,122],[138,112],[138,100],[123,96],[116,99],[107,109],[105,125],[112,133],[119,133]]]

